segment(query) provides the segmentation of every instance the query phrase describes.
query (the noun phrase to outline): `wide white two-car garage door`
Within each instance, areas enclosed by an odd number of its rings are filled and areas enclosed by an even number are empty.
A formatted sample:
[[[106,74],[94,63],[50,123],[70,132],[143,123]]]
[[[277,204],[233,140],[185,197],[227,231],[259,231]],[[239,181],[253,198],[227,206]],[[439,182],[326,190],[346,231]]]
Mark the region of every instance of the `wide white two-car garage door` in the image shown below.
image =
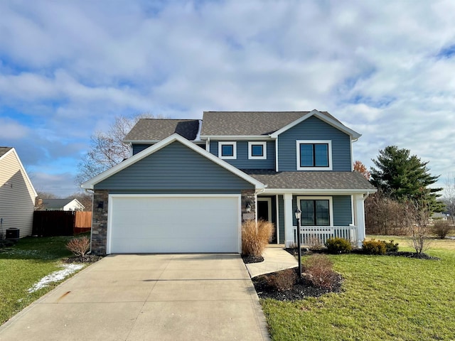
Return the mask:
[[[240,195],[109,195],[108,253],[240,252]]]

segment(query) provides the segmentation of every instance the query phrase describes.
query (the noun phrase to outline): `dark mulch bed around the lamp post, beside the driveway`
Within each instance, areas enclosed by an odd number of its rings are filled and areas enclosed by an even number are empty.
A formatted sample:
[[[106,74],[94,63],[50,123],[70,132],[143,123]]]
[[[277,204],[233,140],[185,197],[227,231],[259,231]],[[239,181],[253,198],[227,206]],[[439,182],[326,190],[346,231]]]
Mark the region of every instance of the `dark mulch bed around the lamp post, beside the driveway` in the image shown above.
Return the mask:
[[[299,273],[298,268],[293,268],[296,271],[296,274]],[[310,281],[306,279],[298,279],[297,282],[289,290],[277,291],[277,288],[274,288],[269,285],[267,278],[269,276],[275,276],[279,272],[277,271],[272,274],[265,274],[252,278],[252,282],[255,286],[257,296],[259,298],[273,298],[278,301],[297,301],[305,297],[319,297],[325,293],[339,293],[341,292],[341,283],[343,282],[343,277],[340,274],[336,274],[336,281],[331,287],[323,286],[314,286]]]

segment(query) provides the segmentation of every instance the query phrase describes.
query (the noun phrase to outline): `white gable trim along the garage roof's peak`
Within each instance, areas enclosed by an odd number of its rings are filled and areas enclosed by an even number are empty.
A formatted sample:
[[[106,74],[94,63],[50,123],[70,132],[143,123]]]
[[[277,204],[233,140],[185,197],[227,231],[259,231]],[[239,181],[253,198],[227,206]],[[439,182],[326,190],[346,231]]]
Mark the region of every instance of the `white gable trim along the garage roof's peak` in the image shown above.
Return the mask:
[[[256,180],[255,178],[252,178],[250,175],[243,173],[239,169],[237,169],[234,166],[230,165],[229,163],[221,160],[220,158],[217,158],[213,154],[209,153],[208,151],[205,151],[203,148],[200,148],[196,144],[193,144],[193,142],[188,141],[183,136],[178,135],[178,134],[172,134],[171,136],[168,136],[166,139],[161,140],[159,143],[154,144],[153,146],[150,146],[149,148],[144,149],[144,151],[137,153],[136,155],[132,156],[131,158],[128,158],[125,161],[122,161],[121,163],[118,163],[114,167],[109,168],[107,171],[104,171],[103,173],[95,176],[95,178],[91,178],[90,180],[85,181],[85,183],[82,183],[82,185],[80,185],[80,187],[82,187],[86,190],[92,190],[94,188],[94,186],[97,183],[100,183],[102,180],[109,178],[110,176],[114,175],[115,173],[122,171],[124,168],[131,166],[133,163],[136,163],[137,161],[140,161],[143,158],[146,158],[147,156],[155,153],[156,151],[159,151],[160,149],[168,146],[169,144],[171,144],[175,141],[178,141],[181,144],[183,144],[184,146],[187,146],[188,148],[190,148],[191,150],[196,151],[196,153],[199,153],[200,155],[204,156],[205,158],[208,158],[210,161],[213,161],[214,163],[225,168],[226,170],[230,171],[231,173],[234,173],[239,178],[242,178],[243,180],[247,181],[248,183],[255,185],[256,189],[265,188],[265,185],[263,183],[259,182],[258,180]]]

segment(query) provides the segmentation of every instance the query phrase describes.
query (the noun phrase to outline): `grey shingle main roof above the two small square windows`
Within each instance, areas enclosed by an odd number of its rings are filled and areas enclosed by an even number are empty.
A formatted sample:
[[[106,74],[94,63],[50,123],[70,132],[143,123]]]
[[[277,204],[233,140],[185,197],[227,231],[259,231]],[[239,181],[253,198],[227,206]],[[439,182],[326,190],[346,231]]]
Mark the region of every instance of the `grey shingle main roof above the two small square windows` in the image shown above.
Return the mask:
[[[203,136],[267,135],[282,129],[309,112],[204,112]],[[339,123],[328,112],[321,112]]]

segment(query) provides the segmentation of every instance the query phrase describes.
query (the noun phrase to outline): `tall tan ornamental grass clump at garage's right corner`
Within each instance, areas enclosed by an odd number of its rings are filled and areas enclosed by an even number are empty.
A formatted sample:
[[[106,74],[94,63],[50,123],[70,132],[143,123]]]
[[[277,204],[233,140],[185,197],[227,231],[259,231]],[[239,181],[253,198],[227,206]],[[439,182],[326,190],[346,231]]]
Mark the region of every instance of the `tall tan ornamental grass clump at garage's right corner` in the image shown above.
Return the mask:
[[[242,254],[259,257],[272,237],[271,222],[247,220],[242,224]]]

